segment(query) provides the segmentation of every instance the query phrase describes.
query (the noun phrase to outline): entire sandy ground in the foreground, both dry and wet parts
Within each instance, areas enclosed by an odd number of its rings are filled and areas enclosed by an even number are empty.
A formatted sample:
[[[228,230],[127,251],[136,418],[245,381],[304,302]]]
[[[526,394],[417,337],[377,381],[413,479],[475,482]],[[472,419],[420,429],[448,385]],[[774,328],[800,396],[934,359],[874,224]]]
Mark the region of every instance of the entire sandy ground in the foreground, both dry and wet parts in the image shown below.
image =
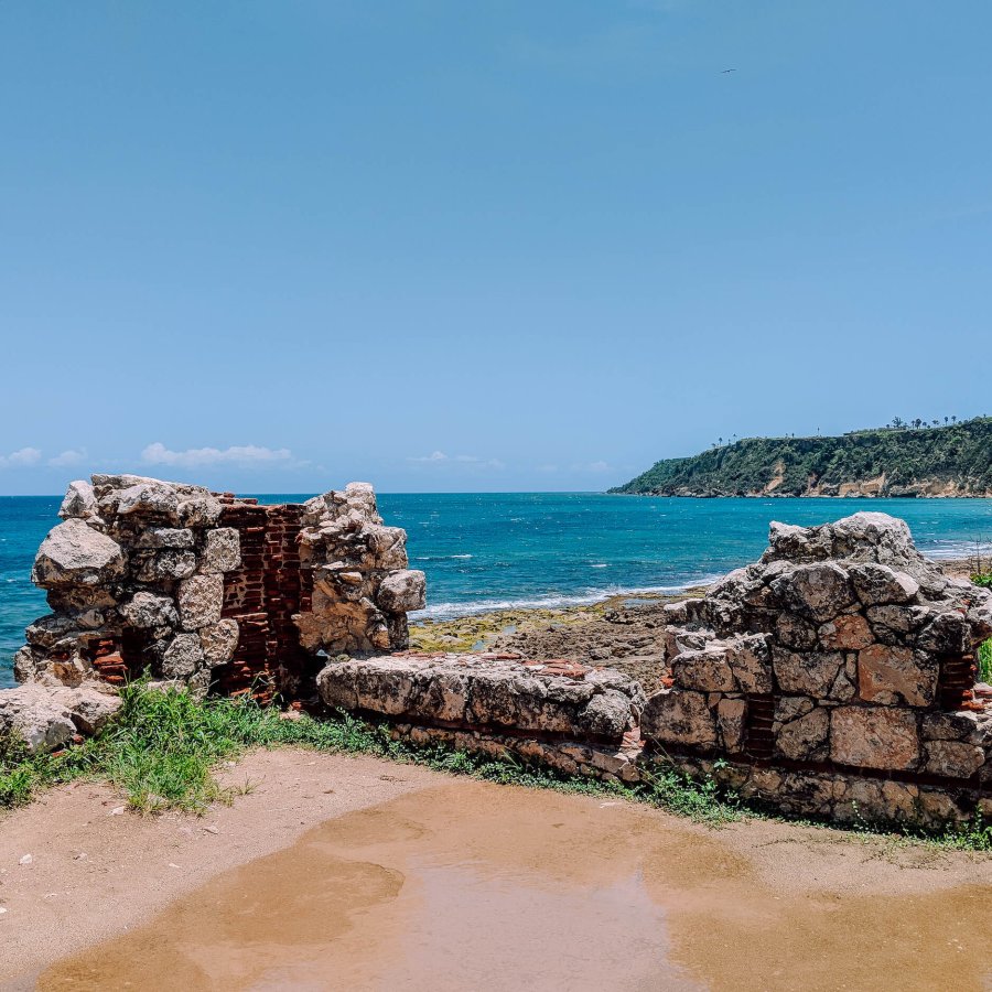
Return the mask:
[[[279,750],[0,820],[0,988],[981,989],[992,859]],[[30,863],[22,863],[30,854]],[[85,855],[85,856],[84,856]],[[345,981],[346,979],[346,981]]]

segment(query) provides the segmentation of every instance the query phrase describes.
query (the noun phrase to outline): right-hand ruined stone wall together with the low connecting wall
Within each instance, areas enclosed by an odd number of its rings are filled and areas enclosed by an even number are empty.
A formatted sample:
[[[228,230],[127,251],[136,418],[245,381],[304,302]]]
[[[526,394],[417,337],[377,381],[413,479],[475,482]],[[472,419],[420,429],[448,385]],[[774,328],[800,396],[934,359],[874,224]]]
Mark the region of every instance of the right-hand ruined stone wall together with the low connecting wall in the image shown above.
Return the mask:
[[[665,688],[513,653],[331,664],[332,708],[418,743],[514,753],[636,783],[658,763],[746,799],[850,822],[992,818],[992,690],[975,648],[992,594],[949,580],[906,525],[772,526],[762,560],[666,607]]]

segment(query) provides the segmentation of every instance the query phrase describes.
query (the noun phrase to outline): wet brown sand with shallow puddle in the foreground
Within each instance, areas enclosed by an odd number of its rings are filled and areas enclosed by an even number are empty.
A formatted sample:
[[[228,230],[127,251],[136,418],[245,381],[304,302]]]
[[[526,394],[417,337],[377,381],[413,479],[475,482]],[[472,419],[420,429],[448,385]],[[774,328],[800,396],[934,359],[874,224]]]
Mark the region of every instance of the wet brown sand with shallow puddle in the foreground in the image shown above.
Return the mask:
[[[218,866],[37,988],[990,986],[989,859],[328,761],[359,790],[413,774]]]

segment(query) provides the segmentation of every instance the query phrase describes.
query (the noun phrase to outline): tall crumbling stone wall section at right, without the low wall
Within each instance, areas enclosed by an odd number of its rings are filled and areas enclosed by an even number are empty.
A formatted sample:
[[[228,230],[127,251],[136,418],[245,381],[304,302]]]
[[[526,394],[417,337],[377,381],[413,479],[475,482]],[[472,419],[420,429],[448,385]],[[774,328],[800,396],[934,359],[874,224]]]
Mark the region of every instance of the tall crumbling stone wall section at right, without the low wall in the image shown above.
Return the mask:
[[[759,562],[667,613],[671,684],[641,735],[687,767],[839,819],[956,819],[992,786],[973,688],[992,595],[945,578],[902,520],[773,524]]]

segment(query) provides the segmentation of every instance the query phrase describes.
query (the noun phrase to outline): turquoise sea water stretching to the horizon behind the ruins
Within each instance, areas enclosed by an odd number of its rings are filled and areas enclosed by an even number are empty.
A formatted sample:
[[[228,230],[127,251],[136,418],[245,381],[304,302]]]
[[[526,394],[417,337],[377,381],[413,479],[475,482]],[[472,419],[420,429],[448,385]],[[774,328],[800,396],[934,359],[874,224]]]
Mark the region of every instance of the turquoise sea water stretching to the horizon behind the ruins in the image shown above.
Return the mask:
[[[301,495],[261,497],[299,502]],[[29,575],[57,522],[54,497],[0,498],[0,684],[23,629],[45,612]],[[822,524],[858,510],[903,517],[921,550],[963,557],[992,537],[992,500],[673,499],[583,493],[381,495],[387,524],[409,535],[428,576],[423,615],[589,603],[617,592],[671,590],[745,564],[768,524]]]

